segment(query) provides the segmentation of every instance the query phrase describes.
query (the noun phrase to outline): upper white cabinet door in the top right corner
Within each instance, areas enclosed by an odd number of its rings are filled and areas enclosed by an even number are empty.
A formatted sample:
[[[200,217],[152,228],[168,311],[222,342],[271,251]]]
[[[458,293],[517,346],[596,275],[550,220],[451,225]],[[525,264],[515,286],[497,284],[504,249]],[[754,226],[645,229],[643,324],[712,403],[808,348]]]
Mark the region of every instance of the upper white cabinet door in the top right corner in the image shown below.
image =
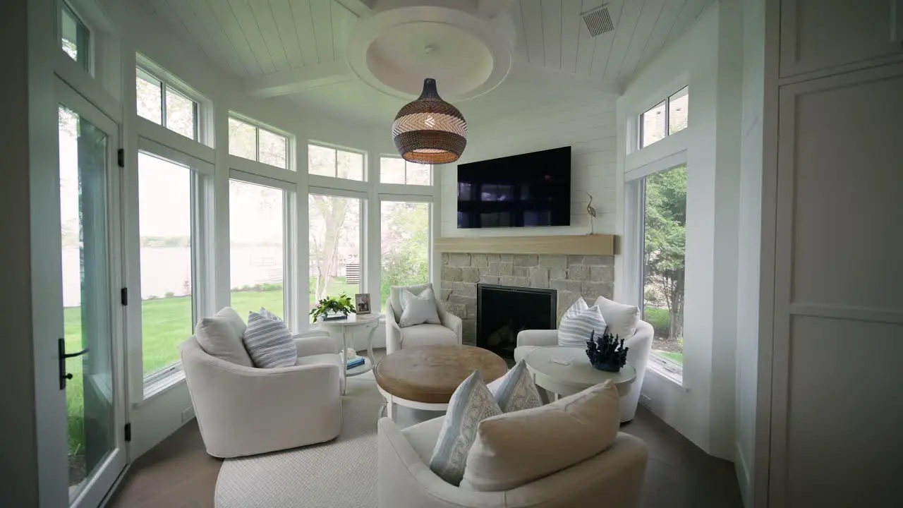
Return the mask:
[[[782,0],[781,76],[903,56],[903,0]]]

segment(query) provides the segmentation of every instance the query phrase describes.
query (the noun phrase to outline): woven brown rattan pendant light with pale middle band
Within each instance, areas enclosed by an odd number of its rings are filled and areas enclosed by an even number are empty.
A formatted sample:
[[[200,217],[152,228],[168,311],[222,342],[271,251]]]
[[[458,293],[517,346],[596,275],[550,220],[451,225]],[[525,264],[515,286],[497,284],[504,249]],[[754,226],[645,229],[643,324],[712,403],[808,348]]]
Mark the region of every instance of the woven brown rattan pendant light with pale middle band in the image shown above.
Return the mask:
[[[406,161],[453,163],[467,146],[467,122],[458,108],[439,97],[436,80],[427,78],[420,97],[398,111],[392,139]]]

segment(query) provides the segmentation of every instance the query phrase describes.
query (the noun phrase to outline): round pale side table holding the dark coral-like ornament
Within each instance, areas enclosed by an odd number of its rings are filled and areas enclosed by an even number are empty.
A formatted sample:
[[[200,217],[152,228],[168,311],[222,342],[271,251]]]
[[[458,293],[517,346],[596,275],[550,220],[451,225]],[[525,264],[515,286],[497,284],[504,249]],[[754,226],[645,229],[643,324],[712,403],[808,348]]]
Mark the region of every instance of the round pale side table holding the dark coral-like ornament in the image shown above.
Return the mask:
[[[570,361],[569,365],[552,362],[552,359]],[[566,397],[605,381],[613,381],[618,394],[627,394],[630,383],[637,378],[633,365],[626,363],[620,372],[600,371],[592,366],[586,351],[579,347],[537,347],[526,354],[526,368],[533,375],[536,386]]]

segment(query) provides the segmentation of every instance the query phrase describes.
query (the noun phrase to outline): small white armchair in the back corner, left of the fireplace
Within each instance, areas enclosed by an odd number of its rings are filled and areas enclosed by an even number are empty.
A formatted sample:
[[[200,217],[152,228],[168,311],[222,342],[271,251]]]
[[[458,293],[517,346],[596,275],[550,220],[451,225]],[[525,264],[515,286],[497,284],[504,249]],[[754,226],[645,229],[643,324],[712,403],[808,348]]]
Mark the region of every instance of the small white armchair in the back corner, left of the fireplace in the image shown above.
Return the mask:
[[[401,317],[401,292],[407,289],[419,295],[432,284],[420,286],[393,286],[392,293],[386,301],[386,354],[392,354],[404,347],[412,345],[460,344],[461,318],[445,311],[442,304],[436,301],[436,312],[442,325],[414,325],[402,328],[398,326]]]

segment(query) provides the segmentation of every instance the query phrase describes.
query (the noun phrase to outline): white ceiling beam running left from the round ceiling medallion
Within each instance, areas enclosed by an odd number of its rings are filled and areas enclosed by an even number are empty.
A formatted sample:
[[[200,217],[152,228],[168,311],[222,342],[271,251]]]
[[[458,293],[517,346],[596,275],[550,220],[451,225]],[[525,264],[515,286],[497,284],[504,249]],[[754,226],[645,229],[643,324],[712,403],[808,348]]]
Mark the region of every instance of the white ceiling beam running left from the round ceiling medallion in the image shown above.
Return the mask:
[[[330,61],[319,65],[309,65],[292,71],[274,72],[244,80],[245,89],[261,98],[298,93],[304,90],[333,85],[357,77],[351,72],[348,62]]]

